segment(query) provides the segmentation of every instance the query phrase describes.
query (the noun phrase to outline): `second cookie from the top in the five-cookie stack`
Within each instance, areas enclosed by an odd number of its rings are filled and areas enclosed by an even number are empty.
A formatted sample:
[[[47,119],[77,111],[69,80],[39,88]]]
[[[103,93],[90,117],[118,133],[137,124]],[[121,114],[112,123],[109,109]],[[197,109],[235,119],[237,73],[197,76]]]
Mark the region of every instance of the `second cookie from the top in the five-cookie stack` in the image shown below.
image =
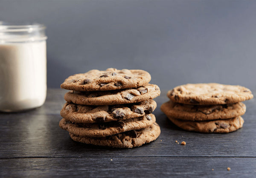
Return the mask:
[[[70,91],[64,95],[64,99],[69,103],[82,105],[114,105],[137,103],[154,99],[159,95],[159,87],[148,83],[133,89],[91,92]]]

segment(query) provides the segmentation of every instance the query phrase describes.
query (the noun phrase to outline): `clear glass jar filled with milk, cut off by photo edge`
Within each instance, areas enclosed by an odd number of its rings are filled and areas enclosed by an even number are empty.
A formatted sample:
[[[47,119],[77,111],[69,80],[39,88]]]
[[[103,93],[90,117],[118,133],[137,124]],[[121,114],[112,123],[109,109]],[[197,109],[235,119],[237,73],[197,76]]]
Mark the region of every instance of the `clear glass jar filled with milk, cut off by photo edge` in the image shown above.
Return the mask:
[[[44,104],[46,39],[42,24],[0,21],[0,111],[17,112]]]

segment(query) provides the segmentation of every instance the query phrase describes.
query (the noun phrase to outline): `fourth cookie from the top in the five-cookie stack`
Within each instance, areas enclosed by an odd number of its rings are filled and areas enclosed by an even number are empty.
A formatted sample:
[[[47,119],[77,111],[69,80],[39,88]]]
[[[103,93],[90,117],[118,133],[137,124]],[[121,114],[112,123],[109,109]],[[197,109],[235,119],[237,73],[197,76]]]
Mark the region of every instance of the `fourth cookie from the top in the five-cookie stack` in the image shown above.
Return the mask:
[[[153,114],[140,118],[105,123],[72,123],[64,118],[59,122],[61,129],[80,137],[105,137],[129,130],[142,129],[156,121]]]

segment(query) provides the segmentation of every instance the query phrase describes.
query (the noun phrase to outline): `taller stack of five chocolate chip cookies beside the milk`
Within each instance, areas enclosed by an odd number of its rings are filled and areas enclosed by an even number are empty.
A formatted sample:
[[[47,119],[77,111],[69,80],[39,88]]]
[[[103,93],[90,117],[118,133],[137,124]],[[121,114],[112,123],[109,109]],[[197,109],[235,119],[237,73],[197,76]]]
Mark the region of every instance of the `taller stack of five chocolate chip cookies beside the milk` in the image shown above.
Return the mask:
[[[132,148],[157,139],[160,127],[151,114],[160,95],[143,70],[90,70],[67,78],[61,88],[67,101],[61,109],[62,129],[74,141]]]

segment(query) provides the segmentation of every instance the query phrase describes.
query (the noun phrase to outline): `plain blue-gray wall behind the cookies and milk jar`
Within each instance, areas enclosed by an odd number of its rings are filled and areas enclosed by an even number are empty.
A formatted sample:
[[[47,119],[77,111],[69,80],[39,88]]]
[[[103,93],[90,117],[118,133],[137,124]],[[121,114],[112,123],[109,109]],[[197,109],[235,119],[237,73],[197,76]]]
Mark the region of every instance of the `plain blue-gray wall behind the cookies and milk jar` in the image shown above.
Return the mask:
[[[171,89],[256,89],[256,1],[2,0],[0,20],[47,26],[48,87],[90,69],[144,69]]]

